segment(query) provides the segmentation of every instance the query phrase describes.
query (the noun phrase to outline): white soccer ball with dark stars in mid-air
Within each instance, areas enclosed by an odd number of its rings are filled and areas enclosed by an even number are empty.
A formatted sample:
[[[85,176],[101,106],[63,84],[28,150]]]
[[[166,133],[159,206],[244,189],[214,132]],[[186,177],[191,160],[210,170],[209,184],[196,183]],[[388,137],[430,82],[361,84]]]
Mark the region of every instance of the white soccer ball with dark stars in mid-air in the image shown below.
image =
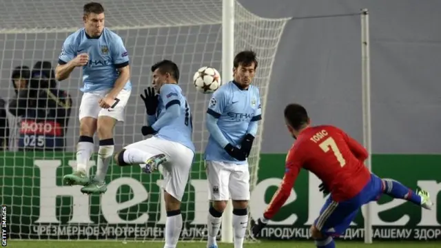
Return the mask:
[[[198,92],[203,94],[210,94],[215,92],[220,87],[219,72],[209,66],[199,68],[193,76],[194,87]]]

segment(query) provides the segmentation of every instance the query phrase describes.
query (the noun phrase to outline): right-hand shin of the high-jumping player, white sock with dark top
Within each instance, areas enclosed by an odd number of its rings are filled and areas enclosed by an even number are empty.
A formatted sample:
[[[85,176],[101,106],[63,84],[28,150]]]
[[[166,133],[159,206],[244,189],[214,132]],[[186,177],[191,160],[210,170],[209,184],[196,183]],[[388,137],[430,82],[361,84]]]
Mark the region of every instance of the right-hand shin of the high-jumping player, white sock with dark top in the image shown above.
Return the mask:
[[[96,175],[95,179],[100,183],[105,181],[107,169],[109,168],[110,160],[114,152],[113,138],[107,138],[99,141],[98,160],[96,161]]]

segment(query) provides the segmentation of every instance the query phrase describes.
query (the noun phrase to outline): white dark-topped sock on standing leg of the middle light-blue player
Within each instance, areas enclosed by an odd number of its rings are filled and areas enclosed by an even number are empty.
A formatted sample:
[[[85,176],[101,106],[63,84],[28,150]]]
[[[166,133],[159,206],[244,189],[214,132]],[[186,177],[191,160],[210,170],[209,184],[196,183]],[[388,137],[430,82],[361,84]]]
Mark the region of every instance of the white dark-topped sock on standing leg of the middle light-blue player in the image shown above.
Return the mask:
[[[183,221],[181,210],[167,211],[165,222],[165,245],[164,248],[175,248],[181,235]]]

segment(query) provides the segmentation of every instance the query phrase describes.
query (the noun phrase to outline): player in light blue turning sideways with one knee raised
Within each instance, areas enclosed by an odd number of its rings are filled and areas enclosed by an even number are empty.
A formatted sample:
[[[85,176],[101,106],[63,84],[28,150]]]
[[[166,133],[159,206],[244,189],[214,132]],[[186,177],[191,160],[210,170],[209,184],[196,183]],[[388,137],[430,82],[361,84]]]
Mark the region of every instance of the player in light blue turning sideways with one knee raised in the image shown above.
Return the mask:
[[[141,94],[148,123],[141,132],[154,136],[127,145],[116,154],[115,161],[121,166],[139,164],[146,173],[162,165],[167,211],[164,247],[174,248],[181,234],[181,200],[194,158],[192,113],[178,86],[178,66],[163,60],[152,66],[152,72],[153,87],[145,90],[145,96]]]

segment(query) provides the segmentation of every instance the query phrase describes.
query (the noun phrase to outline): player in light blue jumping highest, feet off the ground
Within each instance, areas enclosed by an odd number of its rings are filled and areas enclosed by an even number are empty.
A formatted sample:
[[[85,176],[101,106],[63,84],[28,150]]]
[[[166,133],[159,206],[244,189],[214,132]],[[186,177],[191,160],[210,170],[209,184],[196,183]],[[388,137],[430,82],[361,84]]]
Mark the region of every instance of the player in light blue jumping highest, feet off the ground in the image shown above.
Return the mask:
[[[57,80],[63,81],[74,68],[83,68],[77,167],[63,180],[69,185],[85,186],[81,192],[86,194],[104,193],[105,176],[114,153],[114,126],[116,121],[124,121],[132,89],[129,56],[121,37],[104,28],[104,8],[100,3],[85,4],[83,12],[84,28],[64,41],[55,72]],[[95,132],[99,137],[98,161],[96,175],[90,180],[86,170],[94,152]]]

